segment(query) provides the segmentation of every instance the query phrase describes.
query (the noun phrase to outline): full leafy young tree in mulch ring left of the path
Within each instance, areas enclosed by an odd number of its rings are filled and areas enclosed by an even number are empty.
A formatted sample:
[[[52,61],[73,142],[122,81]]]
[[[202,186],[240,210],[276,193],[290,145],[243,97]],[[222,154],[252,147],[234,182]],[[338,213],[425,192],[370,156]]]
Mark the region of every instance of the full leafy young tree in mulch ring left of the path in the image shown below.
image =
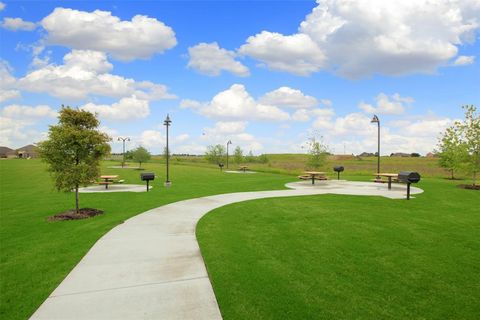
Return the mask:
[[[58,191],[75,190],[100,174],[100,160],[110,152],[110,138],[100,131],[94,114],[62,106],[58,124],[50,126],[48,139],[39,144],[39,153],[52,173]]]

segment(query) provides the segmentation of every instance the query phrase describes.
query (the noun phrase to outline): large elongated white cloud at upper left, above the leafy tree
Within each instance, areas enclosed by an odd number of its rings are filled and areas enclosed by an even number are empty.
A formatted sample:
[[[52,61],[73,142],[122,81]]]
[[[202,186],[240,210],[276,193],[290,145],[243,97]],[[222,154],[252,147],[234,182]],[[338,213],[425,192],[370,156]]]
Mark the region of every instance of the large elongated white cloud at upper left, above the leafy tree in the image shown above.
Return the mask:
[[[41,21],[50,44],[107,52],[118,60],[146,59],[177,44],[173,29],[155,18],[120,20],[109,11],[56,8]]]

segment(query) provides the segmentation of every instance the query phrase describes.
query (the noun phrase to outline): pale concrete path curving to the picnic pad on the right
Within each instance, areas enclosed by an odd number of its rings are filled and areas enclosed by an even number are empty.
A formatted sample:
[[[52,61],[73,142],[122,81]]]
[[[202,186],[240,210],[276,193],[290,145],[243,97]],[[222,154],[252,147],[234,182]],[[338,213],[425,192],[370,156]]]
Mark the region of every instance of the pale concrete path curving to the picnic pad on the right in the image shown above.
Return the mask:
[[[31,319],[221,319],[195,237],[207,212],[261,198],[335,193],[395,199],[406,190],[346,181],[287,186],[294,189],[179,201],[128,219],[95,243]],[[420,192],[412,187],[412,194]]]

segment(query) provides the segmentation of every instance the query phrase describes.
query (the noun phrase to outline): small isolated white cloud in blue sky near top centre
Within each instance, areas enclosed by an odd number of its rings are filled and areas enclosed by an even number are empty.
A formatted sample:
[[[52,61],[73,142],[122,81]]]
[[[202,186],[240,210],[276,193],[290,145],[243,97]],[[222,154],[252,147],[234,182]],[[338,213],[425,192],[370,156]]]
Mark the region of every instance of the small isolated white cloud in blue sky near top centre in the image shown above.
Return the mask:
[[[188,54],[188,67],[209,76],[218,76],[222,71],[241,77],[250,74],[246,66],[235,60],[235,52],[220,48],[216,42],[199,43],[188,48]]]

